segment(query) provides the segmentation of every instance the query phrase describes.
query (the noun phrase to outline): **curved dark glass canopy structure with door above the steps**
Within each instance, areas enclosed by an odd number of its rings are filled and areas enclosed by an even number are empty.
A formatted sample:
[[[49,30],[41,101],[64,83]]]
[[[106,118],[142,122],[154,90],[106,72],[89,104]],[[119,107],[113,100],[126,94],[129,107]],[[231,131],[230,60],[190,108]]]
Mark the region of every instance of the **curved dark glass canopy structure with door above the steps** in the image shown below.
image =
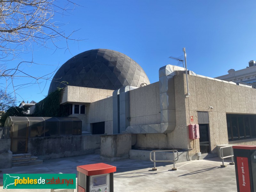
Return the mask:
[[[28,138],[82,134],[82,121],[77,117],[7,117],[4,138],[11,137],[11,151],[25,153]]]

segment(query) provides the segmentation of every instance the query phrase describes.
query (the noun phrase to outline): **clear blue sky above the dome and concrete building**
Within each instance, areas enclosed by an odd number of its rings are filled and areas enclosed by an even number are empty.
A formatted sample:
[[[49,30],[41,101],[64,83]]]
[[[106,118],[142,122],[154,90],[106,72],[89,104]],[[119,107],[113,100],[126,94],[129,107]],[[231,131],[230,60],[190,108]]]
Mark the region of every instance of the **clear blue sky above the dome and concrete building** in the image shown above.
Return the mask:
[[[128,55],[140,64],[151,83],[158,81],[160,67],[177,65],[168,57],[182,55],[183,47],[186,47],[188,69],[204,76],[225,75],[230,68],[239,70],[248,66],[248,61],[256,60],[256,1],[74,2],[81,6],[72,15],[56,15],[54,19],[66,23],[62,29],[67,34],[79,29],[72,37],[85,40],[69,42],[69,51],[54,52],[32,44],[33,60],[44,65],[22,65],[24,72],[43,76],[72,55],[97,48]],[[65,47],[65,40],[57,44]],[[31,54],[22,54],[20,60],[31,60]],[[15,66],[20,60],[9,62],[7,66]],[[19,78],[14,83],[29,81],[32,80]],[[50,81],[17,90],[17,100],[38,102],[47,95],[49,85]]]

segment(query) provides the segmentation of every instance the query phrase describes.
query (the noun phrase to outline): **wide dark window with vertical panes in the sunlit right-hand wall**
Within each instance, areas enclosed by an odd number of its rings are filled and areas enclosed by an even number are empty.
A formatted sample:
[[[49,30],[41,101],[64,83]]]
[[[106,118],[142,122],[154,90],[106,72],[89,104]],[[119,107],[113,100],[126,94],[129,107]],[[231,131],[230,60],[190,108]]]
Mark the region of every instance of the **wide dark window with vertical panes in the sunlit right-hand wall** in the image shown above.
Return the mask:
[[[228,140],[256,137],[256,115],[227,114]]]

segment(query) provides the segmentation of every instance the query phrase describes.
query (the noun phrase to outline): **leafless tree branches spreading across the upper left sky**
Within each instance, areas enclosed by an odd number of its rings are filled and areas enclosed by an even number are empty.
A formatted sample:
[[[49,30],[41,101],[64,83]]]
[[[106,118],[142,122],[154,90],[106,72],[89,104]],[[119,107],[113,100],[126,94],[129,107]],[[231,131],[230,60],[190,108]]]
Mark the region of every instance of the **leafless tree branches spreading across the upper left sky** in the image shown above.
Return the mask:
[[[38,64],[33,57],[29,61],[18,63],[15,68],[8,68],[7,64],[10,60],[22,57],[24,52],[33,52],[34,45],[49,48],[48,45],[53,44],[58,49],[60,47],[56,42],[65,40],[68,49],[69,40],[81,41],[82,39],[71,38],[75,31],[65,34],[61,29],[63,24],[54,20],[56,14],[65,16],[76,6],[76,3],[69,0],[0,0],[0,78],[5,81],[2,88],[12,86],[15,92],[28,85],[14,84],[17,77],[31,78],[31,84],[52,77],[55,71],[36,77],[20,69],[24,63]]]

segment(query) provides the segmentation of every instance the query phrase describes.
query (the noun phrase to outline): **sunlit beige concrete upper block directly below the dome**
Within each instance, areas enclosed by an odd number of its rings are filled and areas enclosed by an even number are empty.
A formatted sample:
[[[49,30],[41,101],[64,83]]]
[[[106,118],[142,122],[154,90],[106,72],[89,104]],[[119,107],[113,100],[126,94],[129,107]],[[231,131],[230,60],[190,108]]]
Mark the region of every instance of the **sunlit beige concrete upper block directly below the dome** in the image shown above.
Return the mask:
[[[95,89],[88,87],[67,86],[64,89],[62,101],[63,103],[92,103],[108,96],[112,96],[113,90]]]

